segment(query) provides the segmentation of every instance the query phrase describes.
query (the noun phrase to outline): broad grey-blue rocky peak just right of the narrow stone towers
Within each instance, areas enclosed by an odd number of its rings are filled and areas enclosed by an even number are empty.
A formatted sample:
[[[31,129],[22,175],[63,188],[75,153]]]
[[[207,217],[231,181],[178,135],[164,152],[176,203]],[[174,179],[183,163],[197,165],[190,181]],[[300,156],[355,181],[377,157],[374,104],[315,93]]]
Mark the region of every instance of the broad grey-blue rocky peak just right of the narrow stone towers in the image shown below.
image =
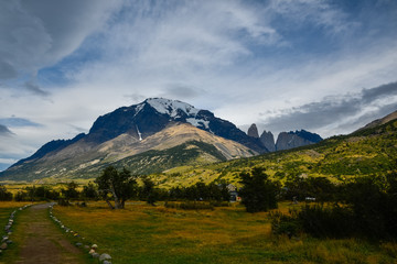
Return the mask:
[[[320,141],[322,141],[320,135],[308,132],[305,130],[297,130],[296,132],[281,132],[277,138],[276,150],[290,150],[293,147],[314,144]]]

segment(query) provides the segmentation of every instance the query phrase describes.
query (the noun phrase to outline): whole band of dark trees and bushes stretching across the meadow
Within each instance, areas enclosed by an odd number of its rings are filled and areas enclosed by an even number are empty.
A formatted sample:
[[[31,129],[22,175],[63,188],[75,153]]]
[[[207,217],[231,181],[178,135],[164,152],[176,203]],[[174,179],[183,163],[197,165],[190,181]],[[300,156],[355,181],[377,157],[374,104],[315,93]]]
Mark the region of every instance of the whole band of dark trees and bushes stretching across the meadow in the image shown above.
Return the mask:
[[[397,238],[397,174],[355,177],[334,184],[324,177],[296,176],[283,185],[271,180],[266,169],[254,167],[240,173],[242,204],[248,212],[278,208],[281,200],[293,202],[315,199],[289,213],[272,211],[272,231],[289,237],[308,233],[318,238],[365,237],[369,239]],[[139,185],[138,180],[142,184]],[[228,201],[226,184],[204,184],[160,189],[148,177],[139,177],[124,168],[105,168],[95,183],[82,190],[74,182],[55,190],[50,186],[32,186],[14,196],[0,186],[0,200],[77,200],[103,199],[111,209],[122,209],[128,199],[146,200],[154,205],[165,201]],[[193,204],[192,204],[193,205]],[[189,204],[189,206],[192,206]],[[194,204],[196,206],[196,204]]]

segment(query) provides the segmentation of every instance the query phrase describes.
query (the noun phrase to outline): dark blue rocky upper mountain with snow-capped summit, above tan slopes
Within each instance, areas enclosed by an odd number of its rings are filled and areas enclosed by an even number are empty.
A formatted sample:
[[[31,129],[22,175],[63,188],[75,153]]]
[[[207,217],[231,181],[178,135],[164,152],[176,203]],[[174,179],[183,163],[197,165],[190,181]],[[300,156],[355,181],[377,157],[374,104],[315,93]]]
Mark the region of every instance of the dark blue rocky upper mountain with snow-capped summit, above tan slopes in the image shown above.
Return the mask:
[[[214,117],[214,113],[207,110],[164,98],[149,98],[141,103],[122,107],[99,117],[86,140],[100,143],[122,133],[129,133],[137,139],[141,134],[141,138],[146,139],[172,122],[190,123],[215,135],[236,141],[258,153],[267,152],[259,139],[248,136],[235,124]]]

